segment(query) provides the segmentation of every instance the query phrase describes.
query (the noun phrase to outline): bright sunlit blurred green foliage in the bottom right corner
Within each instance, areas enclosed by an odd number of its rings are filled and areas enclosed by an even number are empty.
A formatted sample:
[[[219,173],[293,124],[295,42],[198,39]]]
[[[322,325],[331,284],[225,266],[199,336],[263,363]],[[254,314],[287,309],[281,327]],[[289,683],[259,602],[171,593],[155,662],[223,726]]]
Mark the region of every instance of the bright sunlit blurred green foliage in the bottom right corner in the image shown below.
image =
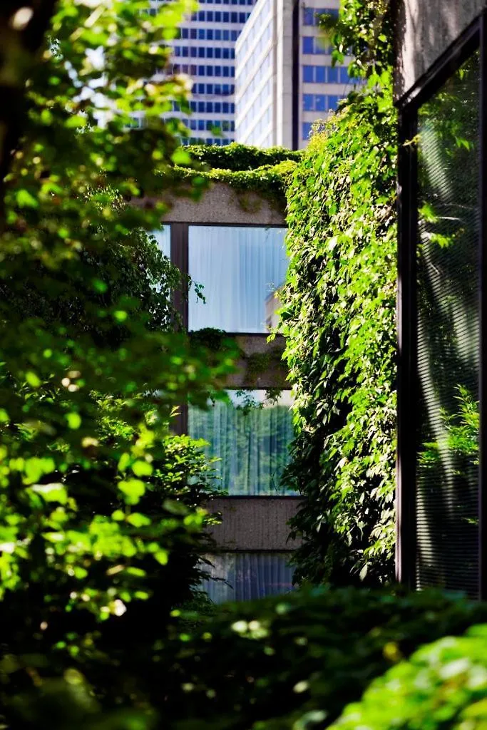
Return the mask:
[[[487,725],[487,626],[423,646],[345,708],[336,730],[482,730]]]

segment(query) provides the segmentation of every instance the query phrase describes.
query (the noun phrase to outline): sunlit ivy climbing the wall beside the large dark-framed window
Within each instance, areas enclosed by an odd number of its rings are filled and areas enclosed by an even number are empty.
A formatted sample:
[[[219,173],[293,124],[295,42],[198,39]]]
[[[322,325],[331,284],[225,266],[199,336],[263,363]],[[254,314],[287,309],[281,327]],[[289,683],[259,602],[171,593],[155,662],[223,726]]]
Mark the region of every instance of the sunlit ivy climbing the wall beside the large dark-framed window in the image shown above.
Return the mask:
[[[343,4],[340,32],[363,4]],[[298,434],[286,480],[304,496],[295,578],[318,583],[393,570],[396,115],[390,72],[374,69],[315,126],[288,187],[280,331]]]

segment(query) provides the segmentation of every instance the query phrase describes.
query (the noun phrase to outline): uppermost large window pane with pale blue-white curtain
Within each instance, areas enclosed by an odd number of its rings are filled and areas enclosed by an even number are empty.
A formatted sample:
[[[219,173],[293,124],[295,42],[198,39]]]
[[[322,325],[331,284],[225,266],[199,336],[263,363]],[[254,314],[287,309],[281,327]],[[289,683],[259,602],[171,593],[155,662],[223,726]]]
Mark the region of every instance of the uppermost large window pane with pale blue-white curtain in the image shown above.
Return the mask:
[[[266,301],[285,280],[285,228],[189,226],[189,274],[206,303],[189,301],[189,328],[265,332]]]

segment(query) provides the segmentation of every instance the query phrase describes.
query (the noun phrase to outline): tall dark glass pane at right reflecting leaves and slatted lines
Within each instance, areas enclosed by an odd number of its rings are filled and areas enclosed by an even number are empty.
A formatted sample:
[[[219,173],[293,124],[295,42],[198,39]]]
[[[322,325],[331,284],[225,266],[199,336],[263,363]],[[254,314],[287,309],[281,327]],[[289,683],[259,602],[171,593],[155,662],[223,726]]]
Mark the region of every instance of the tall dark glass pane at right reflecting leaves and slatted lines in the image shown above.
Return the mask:
[[[478,590],[479,57],[418,112],[418,585]]]

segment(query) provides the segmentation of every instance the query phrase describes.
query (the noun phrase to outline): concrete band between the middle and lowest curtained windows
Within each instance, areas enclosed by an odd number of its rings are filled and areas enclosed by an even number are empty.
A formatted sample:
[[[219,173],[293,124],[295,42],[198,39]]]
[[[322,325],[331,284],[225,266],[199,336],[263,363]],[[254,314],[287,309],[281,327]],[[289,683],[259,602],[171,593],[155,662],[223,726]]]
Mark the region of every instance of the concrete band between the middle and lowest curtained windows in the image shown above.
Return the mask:
[[[218,547],[226,550],[293,550],[288,541],[288,520],[294,517],[299,497],[221,497],[207,508],[221,512],[222,523],[212,530]]]

